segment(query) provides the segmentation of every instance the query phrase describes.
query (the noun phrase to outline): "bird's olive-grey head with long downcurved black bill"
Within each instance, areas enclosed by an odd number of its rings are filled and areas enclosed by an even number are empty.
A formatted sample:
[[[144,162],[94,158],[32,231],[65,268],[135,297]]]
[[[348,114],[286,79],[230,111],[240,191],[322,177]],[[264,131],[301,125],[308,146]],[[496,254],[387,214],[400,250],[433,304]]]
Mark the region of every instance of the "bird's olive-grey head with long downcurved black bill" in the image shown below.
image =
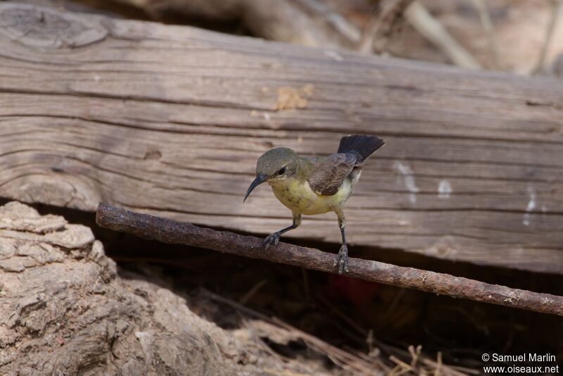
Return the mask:
[[[276,183],[288,179],[296,173],[299,157],[296,152],[287,148],[276,148],[266,151],[256,162],[256,178],[248,187],[244,201],[252,190],[263,182]]]

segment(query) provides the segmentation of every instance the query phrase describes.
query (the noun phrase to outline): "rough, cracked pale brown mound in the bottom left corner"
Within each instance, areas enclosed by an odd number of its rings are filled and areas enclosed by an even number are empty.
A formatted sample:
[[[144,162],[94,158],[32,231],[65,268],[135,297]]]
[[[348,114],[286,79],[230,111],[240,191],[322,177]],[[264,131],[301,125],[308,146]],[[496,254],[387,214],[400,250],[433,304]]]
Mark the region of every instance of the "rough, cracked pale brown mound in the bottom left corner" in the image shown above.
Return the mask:
[[[88,227],[11,202],[0,208],[0,228],[0,375],[296,368],[198,317],[164,282],[118,276]]]

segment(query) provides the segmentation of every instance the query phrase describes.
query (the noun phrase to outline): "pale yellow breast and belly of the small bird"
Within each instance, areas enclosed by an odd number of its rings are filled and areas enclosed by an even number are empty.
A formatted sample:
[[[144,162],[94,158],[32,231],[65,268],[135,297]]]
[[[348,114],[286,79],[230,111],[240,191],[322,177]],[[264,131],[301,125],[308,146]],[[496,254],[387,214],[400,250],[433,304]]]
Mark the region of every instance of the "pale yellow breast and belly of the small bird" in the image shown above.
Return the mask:
[[[343,203],[352,194],[352,184],[349,179],[344,179],[339,192],[332,196],[316,194],[309,187],[308,182],[295,179],[280,180],[270,183],[276,198],[287,208],[296,213],[315,215],[327,213]]]

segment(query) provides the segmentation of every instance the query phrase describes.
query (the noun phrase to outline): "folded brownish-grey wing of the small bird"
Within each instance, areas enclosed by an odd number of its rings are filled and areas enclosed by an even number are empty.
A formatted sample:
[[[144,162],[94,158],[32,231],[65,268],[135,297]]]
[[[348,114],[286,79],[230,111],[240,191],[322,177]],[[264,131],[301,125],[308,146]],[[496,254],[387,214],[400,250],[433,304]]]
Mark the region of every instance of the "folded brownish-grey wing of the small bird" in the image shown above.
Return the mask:
[[[314,161],[313,173],[307,180],[317,194],[332,196],[338,192],[345,177],[350,175],[358,161],[353,153],[336,153]]]

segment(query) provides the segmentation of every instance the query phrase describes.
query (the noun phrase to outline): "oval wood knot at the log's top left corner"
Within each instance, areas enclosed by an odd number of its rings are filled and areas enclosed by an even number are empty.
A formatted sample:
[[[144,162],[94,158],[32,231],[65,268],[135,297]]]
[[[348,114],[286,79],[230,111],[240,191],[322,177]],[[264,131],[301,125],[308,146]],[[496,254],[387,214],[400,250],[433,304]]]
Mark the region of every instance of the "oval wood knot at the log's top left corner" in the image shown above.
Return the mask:
[[[96,19],[27,4],[0,4],[0,36],[47,49],[86,46],[103,40],[108,30]]]

